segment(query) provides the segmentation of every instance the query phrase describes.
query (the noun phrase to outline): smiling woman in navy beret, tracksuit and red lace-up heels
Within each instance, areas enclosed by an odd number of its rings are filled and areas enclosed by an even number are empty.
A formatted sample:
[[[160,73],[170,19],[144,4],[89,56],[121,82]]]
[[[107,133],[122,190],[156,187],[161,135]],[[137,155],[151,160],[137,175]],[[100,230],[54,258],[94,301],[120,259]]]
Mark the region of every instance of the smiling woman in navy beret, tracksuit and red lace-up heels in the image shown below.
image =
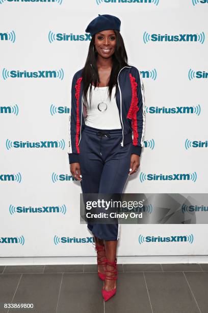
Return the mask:
[[[120,24],[108,14],[91,21],[86,29],[92,36],[87,60],[72,80],[68,154],[70,171],[83,193],[122,193],[128,176],[140,165],[144,87],[139,71],[127,63]],[[116,293],[120,228],[89,223],[88,228],[107,301]]]

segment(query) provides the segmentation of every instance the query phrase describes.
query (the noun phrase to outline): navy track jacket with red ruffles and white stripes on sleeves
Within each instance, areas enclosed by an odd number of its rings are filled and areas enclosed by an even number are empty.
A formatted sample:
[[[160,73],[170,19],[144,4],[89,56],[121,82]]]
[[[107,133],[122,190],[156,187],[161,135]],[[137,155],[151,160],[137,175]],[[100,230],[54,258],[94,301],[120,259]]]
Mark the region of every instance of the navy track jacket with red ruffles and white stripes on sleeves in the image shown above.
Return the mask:
[[[132,154],[141,154],[144,145],[145,97],[141,74],[135,66],[124,66],[118,74],[116,104],[122,125],[121,146],[132,142]],[[69,163],[79,163],[79,143],[85,125],[82,103],[82,70],[73,76],[69,115]],[[85,112],[86,114],[86,112]],[[86,116],[86,115],[85,115]]]

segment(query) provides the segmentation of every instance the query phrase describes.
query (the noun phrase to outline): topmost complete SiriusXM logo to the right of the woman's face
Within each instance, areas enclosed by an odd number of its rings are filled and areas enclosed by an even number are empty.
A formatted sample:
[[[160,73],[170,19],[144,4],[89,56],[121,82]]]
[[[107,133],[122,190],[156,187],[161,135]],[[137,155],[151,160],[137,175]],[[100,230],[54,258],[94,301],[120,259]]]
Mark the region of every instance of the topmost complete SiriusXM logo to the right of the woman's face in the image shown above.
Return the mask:
[[[158,41],[158,42],[169,42],[169,41],[174,41],[174,42],[181,42],[181,41],[198,41],[200,43],[204,43],[205,40],[205,35],[204,32],[198,34],[178,34],[178,35],[161,35],[161,34],[149,34],[147,32],[144,32],[143,34],[143,41],[144,43],[147,43],[148,41]]]

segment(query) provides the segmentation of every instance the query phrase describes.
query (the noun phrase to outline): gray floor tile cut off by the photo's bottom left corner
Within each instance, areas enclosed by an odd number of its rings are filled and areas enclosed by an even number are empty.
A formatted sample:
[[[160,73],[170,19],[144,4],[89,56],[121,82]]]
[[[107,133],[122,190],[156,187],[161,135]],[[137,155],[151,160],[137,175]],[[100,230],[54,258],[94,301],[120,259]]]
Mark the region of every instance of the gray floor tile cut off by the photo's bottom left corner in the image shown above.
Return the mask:
[[[21,274],[1,274],[0,275],[0,312],[7,312],[4,303],[11,303],[17,288]]]

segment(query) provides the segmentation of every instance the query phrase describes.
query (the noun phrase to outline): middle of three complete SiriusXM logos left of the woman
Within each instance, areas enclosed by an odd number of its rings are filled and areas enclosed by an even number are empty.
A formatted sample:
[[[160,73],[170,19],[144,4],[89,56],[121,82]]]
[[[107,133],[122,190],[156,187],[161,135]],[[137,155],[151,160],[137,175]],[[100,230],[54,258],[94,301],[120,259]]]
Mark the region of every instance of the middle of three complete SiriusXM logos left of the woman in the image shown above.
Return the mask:
[[[11,141],[6,140],[7,150],[11,148],[60,148],[65,149],[65,141],[62,139],[60,141],[38,141],[38,142],[22,142],[22,141]]]

